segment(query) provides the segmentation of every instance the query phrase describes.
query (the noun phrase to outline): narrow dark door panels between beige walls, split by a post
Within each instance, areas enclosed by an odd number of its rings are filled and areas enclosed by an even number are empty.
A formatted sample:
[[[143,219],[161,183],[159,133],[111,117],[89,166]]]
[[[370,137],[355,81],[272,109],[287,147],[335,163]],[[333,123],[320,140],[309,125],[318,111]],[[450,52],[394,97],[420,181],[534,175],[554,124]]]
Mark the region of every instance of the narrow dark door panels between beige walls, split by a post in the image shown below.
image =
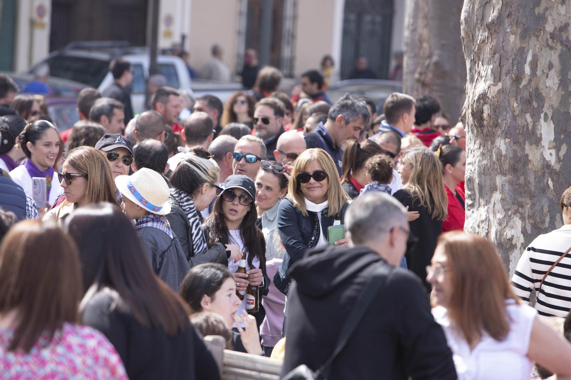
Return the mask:
[[[282,58],[282,30],[284,19],[284,0],[274,0],[272,11],[272,43],[270,51],[271,66],[280,68]],[[246,48],[259,51],[262,33],[263,0],[248,0],[248,18],[246,22]]]

